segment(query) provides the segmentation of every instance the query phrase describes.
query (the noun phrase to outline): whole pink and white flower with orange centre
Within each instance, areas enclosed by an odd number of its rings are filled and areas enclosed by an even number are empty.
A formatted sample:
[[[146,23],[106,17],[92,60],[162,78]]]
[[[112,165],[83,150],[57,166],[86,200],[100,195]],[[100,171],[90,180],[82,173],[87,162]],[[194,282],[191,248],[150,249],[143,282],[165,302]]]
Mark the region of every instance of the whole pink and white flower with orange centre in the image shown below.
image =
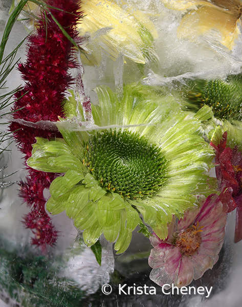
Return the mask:
[[[150,279],[161,287],[173,283],[180,288],[212,269],[223,245],[226,212],[227,206],[212,194],[199,209],[186,211],[179,222],[173,218],[166,240],[153,233]]]

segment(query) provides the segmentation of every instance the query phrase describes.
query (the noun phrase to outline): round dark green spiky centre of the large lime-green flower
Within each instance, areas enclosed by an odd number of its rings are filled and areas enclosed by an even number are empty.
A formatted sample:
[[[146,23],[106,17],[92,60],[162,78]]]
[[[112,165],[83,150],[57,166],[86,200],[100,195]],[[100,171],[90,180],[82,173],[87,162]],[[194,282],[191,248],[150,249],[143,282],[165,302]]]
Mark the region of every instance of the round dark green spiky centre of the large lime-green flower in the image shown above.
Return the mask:
[[[166,160],[157,145],[128,130],[97,132],[85,144],[84,164],[107,190],[136,199],[164,184]]]

